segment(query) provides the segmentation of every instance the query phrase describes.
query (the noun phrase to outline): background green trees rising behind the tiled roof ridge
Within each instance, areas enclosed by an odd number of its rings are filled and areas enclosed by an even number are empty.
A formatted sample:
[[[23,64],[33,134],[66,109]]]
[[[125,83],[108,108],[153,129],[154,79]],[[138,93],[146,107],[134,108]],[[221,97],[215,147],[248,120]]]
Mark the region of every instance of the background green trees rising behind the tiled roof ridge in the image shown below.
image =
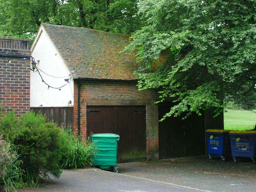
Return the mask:
[[[42,22],[130,34],[137,11],[137,0],[0,0],[0,35],[33,35]]]

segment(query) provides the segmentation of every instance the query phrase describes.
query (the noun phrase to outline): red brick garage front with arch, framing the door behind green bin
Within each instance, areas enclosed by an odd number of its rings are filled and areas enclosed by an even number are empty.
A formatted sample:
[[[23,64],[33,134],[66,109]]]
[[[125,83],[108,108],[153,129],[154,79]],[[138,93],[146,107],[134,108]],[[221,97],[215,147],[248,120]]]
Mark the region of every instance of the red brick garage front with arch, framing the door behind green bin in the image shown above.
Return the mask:
[[[78,84],[74,82],[74,132],[78,132]],[[83,81],[80,92],[80,135],[86,138],[87,105],[146,106],[147,158],[158,159],[158,106],[154,92],[138,91],[136,82]],[[98,103],[97,103],[98,102]]]

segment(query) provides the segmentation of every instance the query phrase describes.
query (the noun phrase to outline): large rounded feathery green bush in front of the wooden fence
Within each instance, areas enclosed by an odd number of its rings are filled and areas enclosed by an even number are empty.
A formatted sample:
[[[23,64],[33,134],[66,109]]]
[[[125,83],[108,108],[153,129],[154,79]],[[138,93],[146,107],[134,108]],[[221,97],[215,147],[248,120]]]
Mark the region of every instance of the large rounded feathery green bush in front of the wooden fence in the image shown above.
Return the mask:
[[[36,116],[34,112],[19,119],[11,112],[1,120],[0,127],[0,133],[16,146],[18,160],[22,161],[20,168],[24,170],[23,182],[33,186],[39,183],[41,176],[60,176],[60,160],[66,149],[64,135],[56,124],[46,122],[44,116]]]

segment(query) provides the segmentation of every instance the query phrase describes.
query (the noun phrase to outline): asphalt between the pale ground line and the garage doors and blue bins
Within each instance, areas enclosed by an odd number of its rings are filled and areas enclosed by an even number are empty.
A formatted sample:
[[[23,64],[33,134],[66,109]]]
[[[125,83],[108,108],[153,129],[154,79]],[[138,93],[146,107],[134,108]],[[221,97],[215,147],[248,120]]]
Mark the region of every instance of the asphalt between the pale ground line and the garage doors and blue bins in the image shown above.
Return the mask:
[[[120,174],[212,192],[255,192],[256,164],[206,156],[120,164]]]

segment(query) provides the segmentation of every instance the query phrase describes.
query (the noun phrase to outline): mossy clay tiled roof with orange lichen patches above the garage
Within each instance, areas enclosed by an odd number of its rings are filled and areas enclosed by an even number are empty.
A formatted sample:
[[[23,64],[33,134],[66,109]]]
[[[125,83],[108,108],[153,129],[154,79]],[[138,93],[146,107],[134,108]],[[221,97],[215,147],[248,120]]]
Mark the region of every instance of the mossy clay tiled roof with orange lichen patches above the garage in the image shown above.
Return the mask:
[[[134,54],[120,53],[128,35],[42,24],[74,78],[136,80]]]

